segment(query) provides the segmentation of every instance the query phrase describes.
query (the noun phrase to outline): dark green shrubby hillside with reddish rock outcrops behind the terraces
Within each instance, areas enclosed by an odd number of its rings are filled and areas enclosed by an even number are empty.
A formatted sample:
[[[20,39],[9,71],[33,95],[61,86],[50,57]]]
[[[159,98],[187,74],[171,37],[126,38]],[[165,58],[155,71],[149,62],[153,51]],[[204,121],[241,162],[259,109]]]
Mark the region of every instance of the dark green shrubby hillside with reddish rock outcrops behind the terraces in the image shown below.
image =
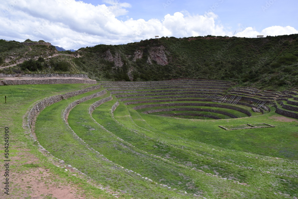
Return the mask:
[[[8,42],[1,41],[0,45],[4,43]],[[9,52],[24,49],[15,43],[11,45],[0,53],[2,65]],[[0,72],[85,73],[97,80],[112,81],[204,78],[285,90],[298,85],[297,49],[298,34],[265,38],[162,37],[125,45],[81,48],[73,57],[60,55],[48,59],[41,67],[32,69],[25,63]],[[42,51],[40,48],[39,56],[45,57]]]

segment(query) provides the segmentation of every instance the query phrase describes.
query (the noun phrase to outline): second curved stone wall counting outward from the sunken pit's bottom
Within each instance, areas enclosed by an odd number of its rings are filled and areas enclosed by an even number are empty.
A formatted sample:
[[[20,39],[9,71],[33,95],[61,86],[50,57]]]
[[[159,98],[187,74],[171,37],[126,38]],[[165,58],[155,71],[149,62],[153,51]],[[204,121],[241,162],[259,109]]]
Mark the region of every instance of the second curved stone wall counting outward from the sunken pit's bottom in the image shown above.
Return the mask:
[[[155,112],[168,112],[168,111],[202,111],[202,112],[213,112],[213,113],[219,113],[222,115],[227,115],[231,118],[238,118],[235,115],[223,111],[217,111],[217,110],[210,110],[210,109],[199,109],[199,108],[170,108],[170,109],[153,109],[153,110],[148,110],[142,113],[145,114],[150,114],[150,113],[155,113]]]

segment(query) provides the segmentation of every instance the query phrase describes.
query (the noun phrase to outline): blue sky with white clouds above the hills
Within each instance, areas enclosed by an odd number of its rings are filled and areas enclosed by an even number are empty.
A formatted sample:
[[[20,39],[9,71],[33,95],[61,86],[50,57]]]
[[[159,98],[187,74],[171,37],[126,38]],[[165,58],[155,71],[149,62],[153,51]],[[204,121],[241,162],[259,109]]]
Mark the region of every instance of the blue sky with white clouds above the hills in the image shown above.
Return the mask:
[[[159,37],[298,34],[297,0],[0,0],[0,39],[66,50]]]

